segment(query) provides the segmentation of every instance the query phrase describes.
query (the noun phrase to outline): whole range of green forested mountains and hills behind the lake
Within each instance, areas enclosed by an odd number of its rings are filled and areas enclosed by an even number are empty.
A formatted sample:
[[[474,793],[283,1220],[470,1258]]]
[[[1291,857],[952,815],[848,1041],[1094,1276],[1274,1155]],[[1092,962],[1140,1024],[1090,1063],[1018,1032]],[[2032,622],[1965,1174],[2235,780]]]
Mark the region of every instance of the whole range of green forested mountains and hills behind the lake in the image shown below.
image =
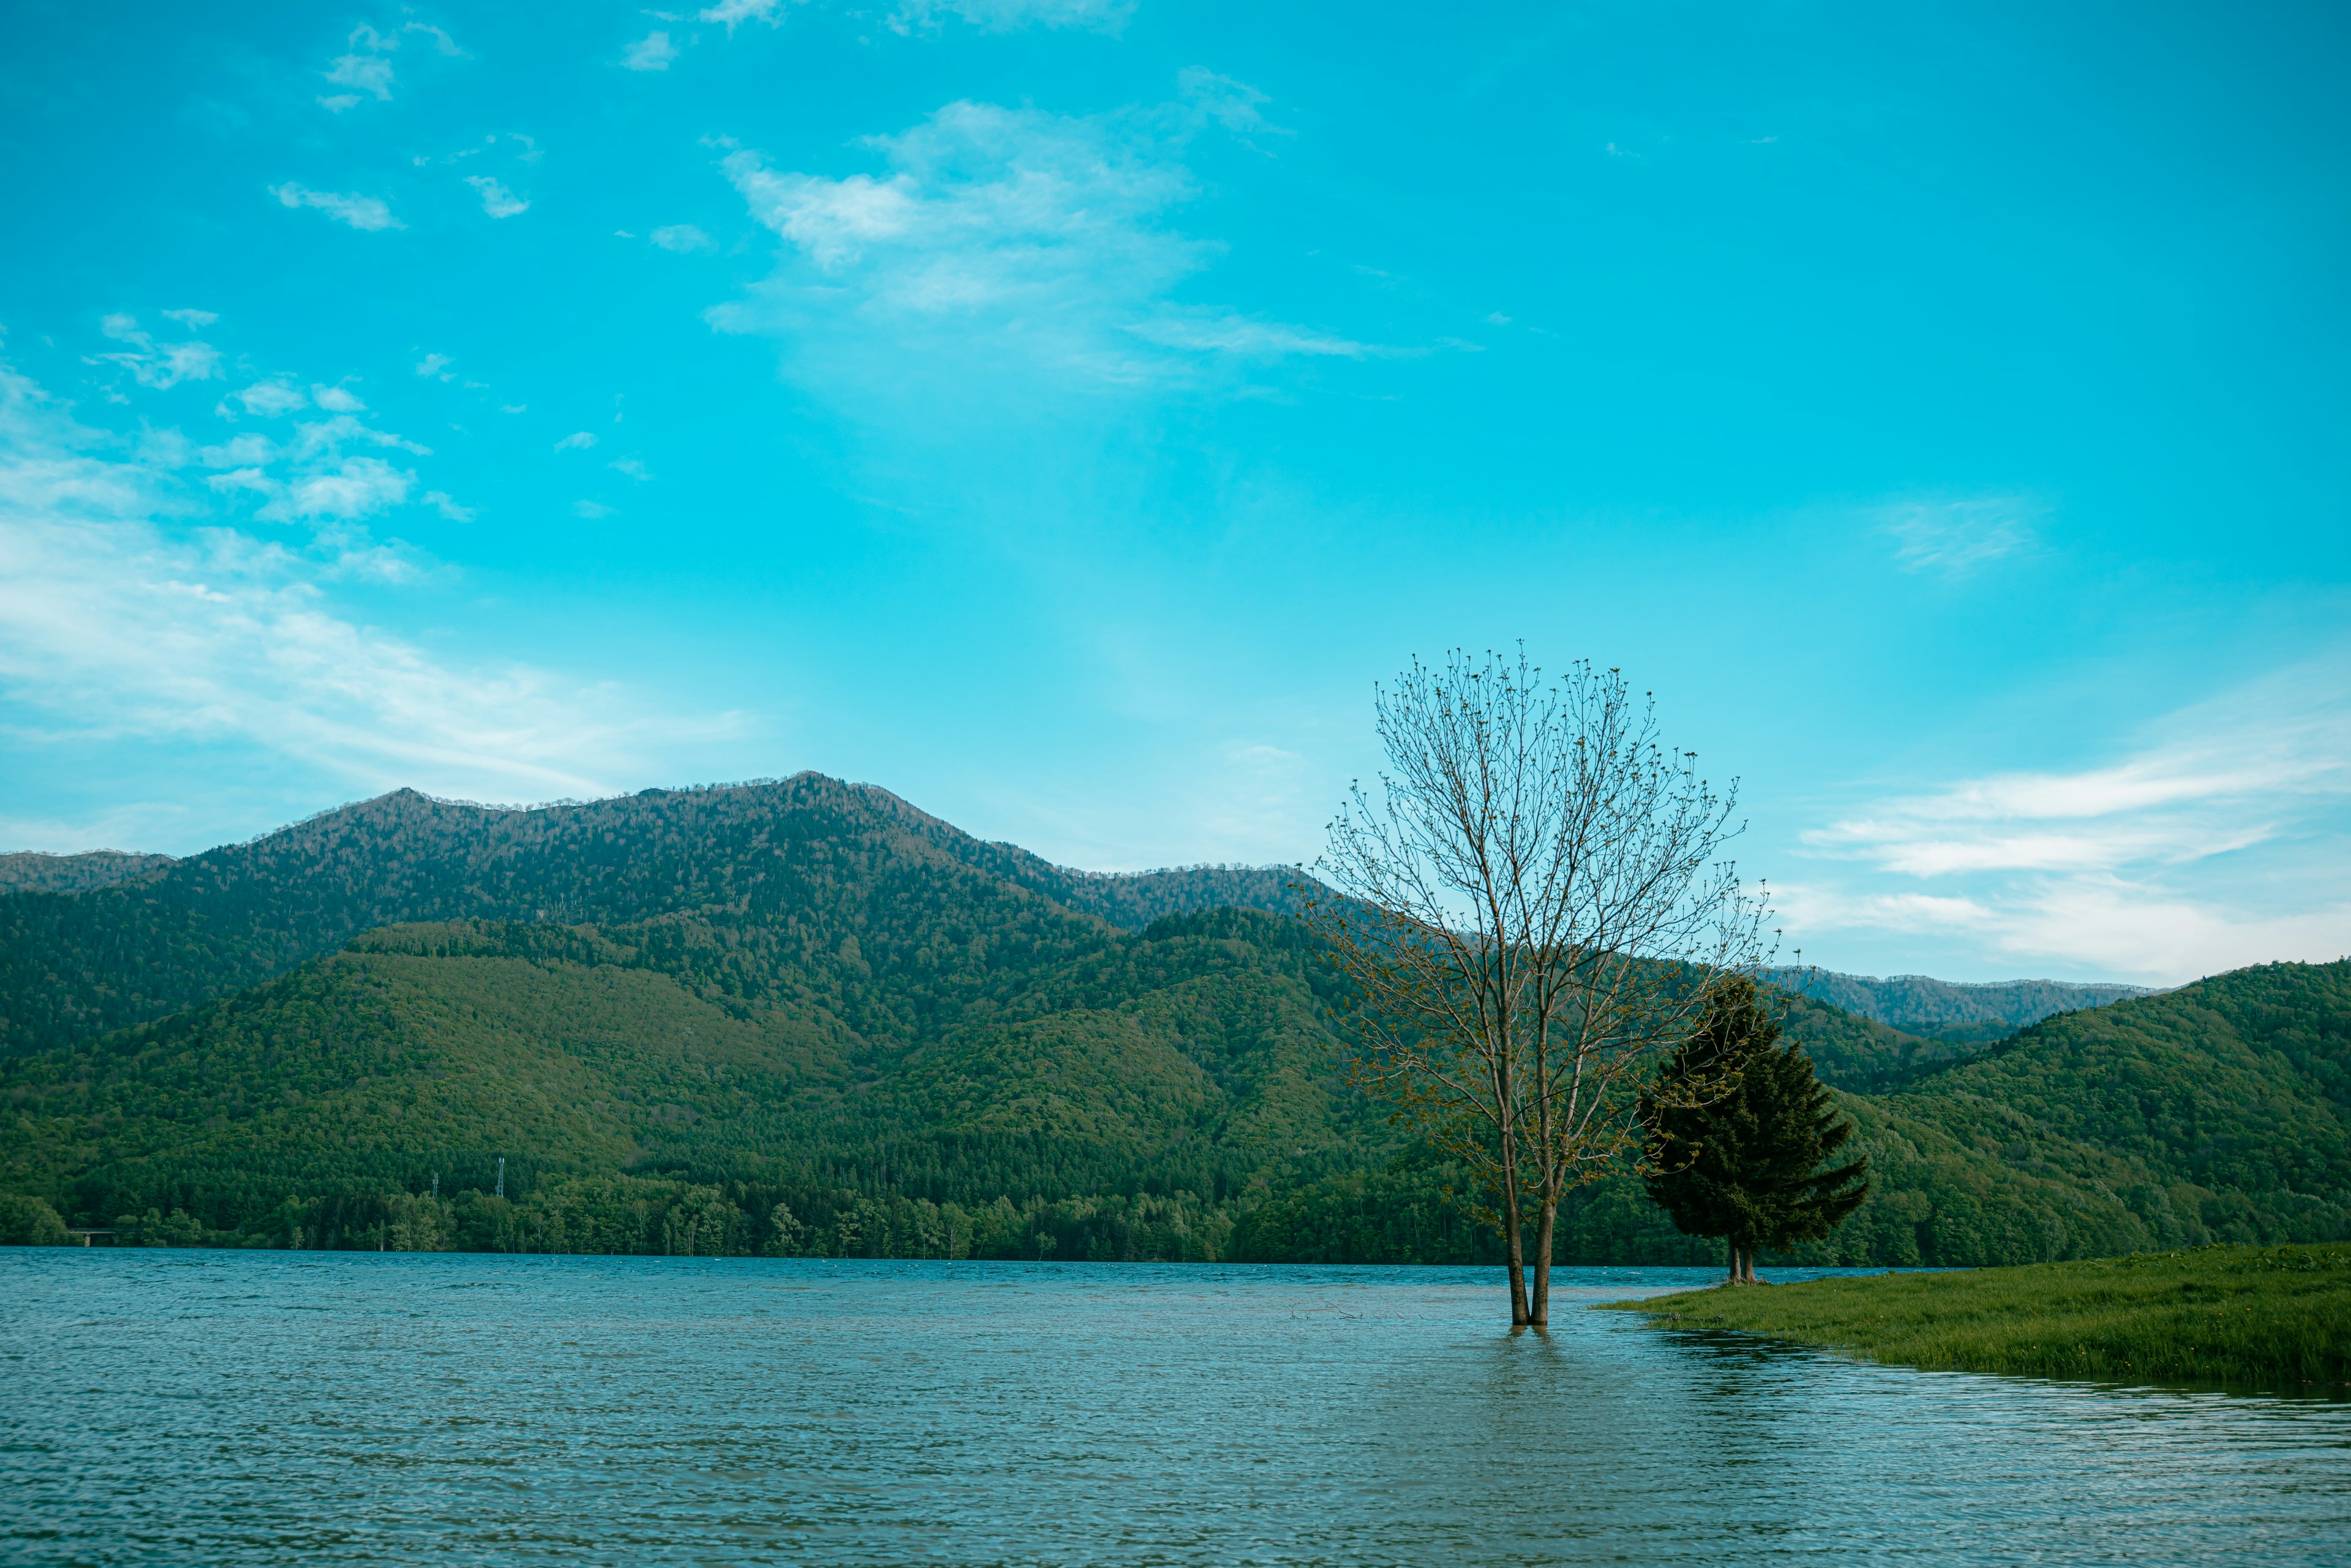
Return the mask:
[[[393,795],[7,893],[0,1239],[1495,1258],[1462,1173],[1345,1081],[1347,999],[1291,879],[1089,877],[802,776],[543,811]],[[1876,1173],[1803,1258],[2351,1237],[2351,966],[1989,1048],[1784,1009]],[[1559,1255],[1716,1246],[1617,1175]]]

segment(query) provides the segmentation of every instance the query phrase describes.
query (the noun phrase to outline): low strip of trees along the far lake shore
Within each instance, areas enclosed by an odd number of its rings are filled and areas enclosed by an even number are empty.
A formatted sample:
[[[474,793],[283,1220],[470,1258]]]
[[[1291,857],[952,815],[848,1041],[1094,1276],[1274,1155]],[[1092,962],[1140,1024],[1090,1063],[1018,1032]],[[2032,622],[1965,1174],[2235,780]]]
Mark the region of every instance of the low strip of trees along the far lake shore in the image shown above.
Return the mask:
[[[1888,1154],[1881,1143],[1878,1157]],[[1900,1166],[1900,1152],[1895,1152]],[[510,1173],[513,1175],[513,1173]],[[2309,1241],[2339,1215],[2278,1211],[2241,1192],[2139,1185],[2111,1208],[2067,1187],[1996,1190],[1968,1168],[1902,1171],[1827,1241],[1766,1253],[1766,1265],[1989,1267],[2151,1248]],[[517,1182],[520,1185],[520,1182]],[[1190,1192],[1030,1197],[957,1204],[806,1182],[555,1175],[520,1197],[468,1187],[287,1197],[235,1227],[183,1206],[110,1220],[118,1246],[268,1246],[306,1251],[614,1253],[668,1258],[994,1258],[1079,1262],[1500,1262],[1493,1229],[1467,1213],[1465,1173],[1406,1157],[1286,1192],[1208,1201]],[[2071,1201],[2069,1201],[2071,1199]],[[63,1244],[40,1199],[0,1199],[0,1244]],[[1533,1237],[1528,1239],[1533,1244]],[[1559,1215],[1563,1265],[1716,1265],[1721,1246],[1683,1237],[1617,1175],[1575,1192]]]

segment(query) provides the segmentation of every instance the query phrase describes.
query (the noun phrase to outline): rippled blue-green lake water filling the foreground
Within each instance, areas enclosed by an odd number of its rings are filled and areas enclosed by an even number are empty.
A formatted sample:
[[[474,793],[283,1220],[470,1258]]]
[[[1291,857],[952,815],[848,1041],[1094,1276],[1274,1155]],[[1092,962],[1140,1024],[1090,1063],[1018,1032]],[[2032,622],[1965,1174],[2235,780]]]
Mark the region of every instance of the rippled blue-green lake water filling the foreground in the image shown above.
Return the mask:
[[[0,1253],[9,1563],[2351,1561],[2351,1406],[1585,1312],[1702,1269]]]

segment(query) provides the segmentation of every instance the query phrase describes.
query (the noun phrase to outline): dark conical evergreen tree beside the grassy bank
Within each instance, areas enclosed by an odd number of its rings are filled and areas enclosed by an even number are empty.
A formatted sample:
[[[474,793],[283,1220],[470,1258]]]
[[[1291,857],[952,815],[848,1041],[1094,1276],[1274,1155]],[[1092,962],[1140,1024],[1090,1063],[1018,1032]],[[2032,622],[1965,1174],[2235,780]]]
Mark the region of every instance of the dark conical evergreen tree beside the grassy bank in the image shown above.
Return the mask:
[[[1730,1284],[1754,1284],[1759,1246],[1836,1229],[1869,1197],[1869,1157],[1824,1171],[1853,1138],[1810,1058],[1780,1046],[1751,980],[1719,980],[1697,1034],[1641,1095],[1648,1194],[1690,1237],[1723,1237]]]

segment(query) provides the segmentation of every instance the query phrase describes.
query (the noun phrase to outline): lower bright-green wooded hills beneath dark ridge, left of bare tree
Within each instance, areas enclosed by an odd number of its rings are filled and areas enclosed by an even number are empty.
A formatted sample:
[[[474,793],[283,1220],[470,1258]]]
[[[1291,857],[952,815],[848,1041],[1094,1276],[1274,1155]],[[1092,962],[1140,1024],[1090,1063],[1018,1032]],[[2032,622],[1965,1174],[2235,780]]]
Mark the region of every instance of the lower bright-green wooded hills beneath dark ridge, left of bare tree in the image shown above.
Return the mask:
[[[1110,938],[938,1030],[856,987],[743,1004],[668,926],[395,926],[292,976],[5,1070],[0,1187],[85,1220],[249,1229],[284,1197],[456,1192],[505,1154],[987,1204],[1194,1192],[1385,1159],[1298,933],[1194,914]],[[658,966],[663,959],[668,969]],[[863,959],[858,959],[863,961]],[[938,1009],[945,1011],[945,1009]]]

